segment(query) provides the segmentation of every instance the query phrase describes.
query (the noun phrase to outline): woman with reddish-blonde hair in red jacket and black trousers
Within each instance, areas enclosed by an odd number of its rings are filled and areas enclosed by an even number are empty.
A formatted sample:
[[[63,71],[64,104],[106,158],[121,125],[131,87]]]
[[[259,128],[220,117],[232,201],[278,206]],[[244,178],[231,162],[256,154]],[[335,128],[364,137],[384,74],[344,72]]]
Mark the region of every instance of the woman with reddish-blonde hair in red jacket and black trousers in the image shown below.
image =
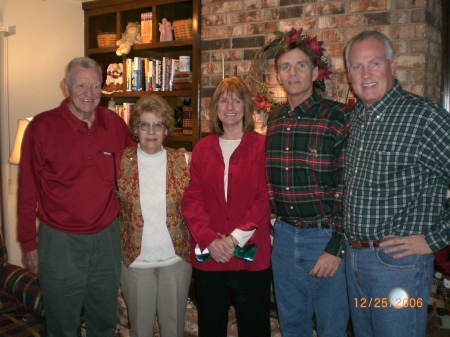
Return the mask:
[[[213,134],[192,152],[191,181],[182,203],[193,237],[199,335],[227,335],[231,290],[239,336],[270,337],[265,138],[253,131],[253,102],[238,77],[219,83],[210,112]],[[255,247],[253,258],[240,255]]]

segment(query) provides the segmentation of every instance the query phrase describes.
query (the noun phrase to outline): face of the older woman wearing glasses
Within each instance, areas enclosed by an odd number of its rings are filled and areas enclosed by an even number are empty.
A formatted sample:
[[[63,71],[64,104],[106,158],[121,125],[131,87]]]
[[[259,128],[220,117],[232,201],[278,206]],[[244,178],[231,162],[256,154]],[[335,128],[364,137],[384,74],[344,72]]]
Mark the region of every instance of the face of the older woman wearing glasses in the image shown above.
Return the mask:
[[[140,127],[136,129],[141,150],[148,154],[156,154],[161,151],[162,143],[167,135],[167,129],[163,126],[162,130],[156,131],[153,123],[158,122],[164,125],[163,118],[156,116],[153,112],[143,112],[139,122],[146,126],[144,128],[148,127],[146,131],[141,130]]]

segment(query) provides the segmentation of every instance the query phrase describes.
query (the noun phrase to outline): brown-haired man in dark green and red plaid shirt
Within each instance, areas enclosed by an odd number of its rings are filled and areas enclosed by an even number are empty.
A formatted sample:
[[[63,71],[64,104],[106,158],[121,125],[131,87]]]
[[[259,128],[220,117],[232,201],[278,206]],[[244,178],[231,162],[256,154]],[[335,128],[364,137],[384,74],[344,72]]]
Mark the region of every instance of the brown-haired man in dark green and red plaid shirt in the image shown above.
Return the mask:
[[[274,224],[272,268],[283,337],[346,336],[342,182],[350,108],[314,92],[318,58],[303,41],[275,57],[288,103],[269,115],[266,167]]]

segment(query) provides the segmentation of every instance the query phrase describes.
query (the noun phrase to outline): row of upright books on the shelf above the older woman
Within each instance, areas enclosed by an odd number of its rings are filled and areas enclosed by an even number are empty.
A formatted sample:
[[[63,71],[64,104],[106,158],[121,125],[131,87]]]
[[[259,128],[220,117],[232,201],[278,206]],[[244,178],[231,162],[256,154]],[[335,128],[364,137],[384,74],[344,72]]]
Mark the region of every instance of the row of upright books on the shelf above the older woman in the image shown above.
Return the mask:
[[[174,57],[151,59],[134,57],[126,59],[127,91],[172,91],[175,75],[180,71],[180,61]],[[191,74],[192,88],[192,74]]]

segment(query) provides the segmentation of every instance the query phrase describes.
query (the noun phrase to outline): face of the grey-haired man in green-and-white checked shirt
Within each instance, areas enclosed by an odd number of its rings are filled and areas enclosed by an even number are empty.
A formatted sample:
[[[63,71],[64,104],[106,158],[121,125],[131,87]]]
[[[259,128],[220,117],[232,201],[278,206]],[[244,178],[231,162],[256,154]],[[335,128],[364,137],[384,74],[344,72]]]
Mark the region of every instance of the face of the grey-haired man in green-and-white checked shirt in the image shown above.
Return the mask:
[[[348,75],[353,91],[365,108],[380,100],[395,83],[395,61],[377,38],[355,42],[348,54]]]

